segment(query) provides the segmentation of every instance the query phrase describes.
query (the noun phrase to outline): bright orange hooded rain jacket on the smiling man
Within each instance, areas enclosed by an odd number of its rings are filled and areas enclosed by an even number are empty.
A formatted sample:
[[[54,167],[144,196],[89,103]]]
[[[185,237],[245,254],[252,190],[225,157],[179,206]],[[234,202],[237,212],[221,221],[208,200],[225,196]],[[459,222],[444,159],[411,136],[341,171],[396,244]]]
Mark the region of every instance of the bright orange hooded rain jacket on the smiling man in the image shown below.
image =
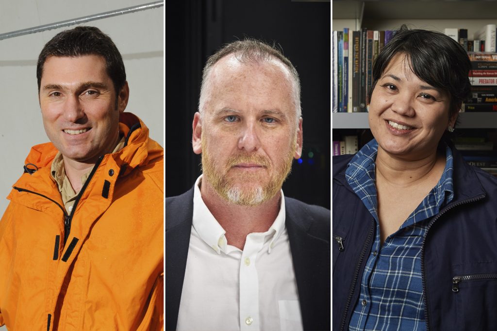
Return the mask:
[[[135,115],[120,121],[125,147],[100,157],[69,217],[50,176],[57,150],[32,147],[0,221],[9,331],[164,328],[164,149]]]

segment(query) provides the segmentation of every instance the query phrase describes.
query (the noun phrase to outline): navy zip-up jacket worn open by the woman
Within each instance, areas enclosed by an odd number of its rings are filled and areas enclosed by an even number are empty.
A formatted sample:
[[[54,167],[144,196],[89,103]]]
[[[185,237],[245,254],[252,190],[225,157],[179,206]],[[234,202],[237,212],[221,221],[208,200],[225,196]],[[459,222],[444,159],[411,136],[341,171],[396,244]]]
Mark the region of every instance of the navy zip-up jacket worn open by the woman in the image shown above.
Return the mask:
[[[427,329],[497,330],[497,178],[448,144],[454,199],[430,219],[421,248]],[[352,157],[333,157],[333,330],[348,330],[376,228],[345,179]]]

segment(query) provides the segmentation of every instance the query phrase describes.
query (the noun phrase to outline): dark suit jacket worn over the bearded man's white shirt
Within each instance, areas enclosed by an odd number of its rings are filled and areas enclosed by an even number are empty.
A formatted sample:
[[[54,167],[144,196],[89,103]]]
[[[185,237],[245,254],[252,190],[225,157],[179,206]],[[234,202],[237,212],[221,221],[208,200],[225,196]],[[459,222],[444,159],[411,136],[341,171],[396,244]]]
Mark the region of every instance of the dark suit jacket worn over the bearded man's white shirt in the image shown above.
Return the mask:
[[[285,209],[304,330],[330,330],[330,210],[291,198]],[[192,216],[193,188],[166,199],[166,330],[176,329]]]

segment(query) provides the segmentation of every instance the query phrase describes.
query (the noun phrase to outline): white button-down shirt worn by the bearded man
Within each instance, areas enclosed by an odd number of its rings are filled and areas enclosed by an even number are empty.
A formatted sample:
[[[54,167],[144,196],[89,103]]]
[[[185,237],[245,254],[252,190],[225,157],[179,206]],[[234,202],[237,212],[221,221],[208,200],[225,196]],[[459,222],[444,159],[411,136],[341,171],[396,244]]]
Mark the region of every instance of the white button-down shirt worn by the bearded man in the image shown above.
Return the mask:
[[[283,191],[269,230],[248,234],[241,251],[227,243],[226,231],[202,200],[201,180],[202,176],[194,188],[176,330],[303,330]]]

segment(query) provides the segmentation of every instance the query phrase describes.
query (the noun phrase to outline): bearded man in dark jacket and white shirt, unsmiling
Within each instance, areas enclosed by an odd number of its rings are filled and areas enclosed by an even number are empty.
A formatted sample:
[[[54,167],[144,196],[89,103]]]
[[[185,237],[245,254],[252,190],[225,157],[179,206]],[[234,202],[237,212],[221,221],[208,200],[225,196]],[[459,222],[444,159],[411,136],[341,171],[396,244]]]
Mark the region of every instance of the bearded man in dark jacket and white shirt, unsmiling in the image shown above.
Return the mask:
[[[166,199],[166,330],[330,330],[330,211],[286,198],[302,153],[298,73],[248,39],[203,70],[202,172]]]

